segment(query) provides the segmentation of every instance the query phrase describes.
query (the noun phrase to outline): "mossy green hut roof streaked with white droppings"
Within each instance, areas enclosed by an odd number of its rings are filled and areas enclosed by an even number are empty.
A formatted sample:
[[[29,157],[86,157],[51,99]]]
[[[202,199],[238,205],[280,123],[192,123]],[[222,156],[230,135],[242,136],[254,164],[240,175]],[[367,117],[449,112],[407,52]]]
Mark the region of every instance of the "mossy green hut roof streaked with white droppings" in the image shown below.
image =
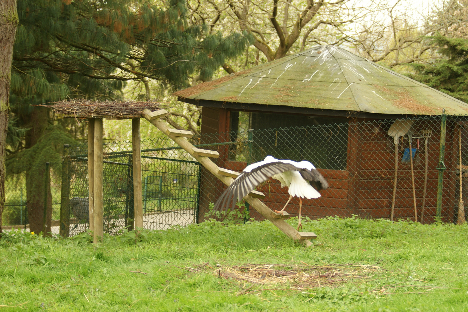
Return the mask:
[[[318,46],[175,92],[180,100],[294,106],[350,112],[468,114],[468,104],[359,57]],[[267,110],[267,109],[266,109]]]

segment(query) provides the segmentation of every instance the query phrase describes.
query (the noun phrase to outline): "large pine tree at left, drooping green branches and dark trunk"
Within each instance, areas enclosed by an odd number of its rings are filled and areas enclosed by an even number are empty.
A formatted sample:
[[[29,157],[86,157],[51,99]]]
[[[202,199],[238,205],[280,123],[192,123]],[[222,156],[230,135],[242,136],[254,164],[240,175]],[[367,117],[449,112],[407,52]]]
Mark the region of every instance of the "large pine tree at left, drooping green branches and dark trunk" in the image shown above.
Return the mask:
[[[30,229],[38,232],[44,186],[37,181],[43,181],[43,172],[32,168],[57,158],[59,145],[72,138],[58,135],[48,109],[31,103],[65,96],[114,99],[129,80],[154,79],[180,89],[189,85],[192,74],[209,79],[225,59],[241,54],[251,41],[247,33],[225,37],[208,34],[206,25],[189,27],[184,0],[154,5],[138,0],[18,0],[18,14],[12,126],[29,130],[24,145],[18,145],[24,151],[14,152],[10,163],[28,168]],[[39,147],[55,153],[27,152]]]

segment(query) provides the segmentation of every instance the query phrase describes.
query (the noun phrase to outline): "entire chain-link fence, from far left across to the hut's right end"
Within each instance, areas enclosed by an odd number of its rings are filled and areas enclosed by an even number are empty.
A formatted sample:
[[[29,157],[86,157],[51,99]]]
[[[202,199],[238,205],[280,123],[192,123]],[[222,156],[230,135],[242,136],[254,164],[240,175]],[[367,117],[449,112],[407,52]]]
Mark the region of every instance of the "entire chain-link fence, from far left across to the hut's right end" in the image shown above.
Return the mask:
[[[198,148],[217,150],[220,156],[213,161],[229,170],[241,171],[267,155],[314,163],[330,187],[322,191],[322,197],[303,201],[303,216],[355,214],[414,220],[416,211],[418,221],[424,223],[438,215],[442,221],[453,222],[460,198],[460,140],[462,196],[468,200],[468,117],[448,116],[445,127],[444,118],[347,119],[340,124],[202,134],[188,140]],[[442,142],[441,129],[445,129]],[[144,227],[166,229],[203,221],[210,203],[226,186],[168,138],[143,141],[141,146]],[[52,220],[59,219],[61,204],[69,212],[69,234],[73,235],[89,227],[87,147],[67,147],[64,155],[63,171],[51,175]],[[133,226],[132,171],[131,142],[104,144],[107,233]],[[29,205],[25,174],[9,177],[6,187],[3,225],[24,226]],[[272,210],[282,209],[289,197],[287,188],[273,179],[257,191],[263,192],[263,202]],[[294,216],[298,210],[298,199],[292,199],[286,211]],[[263,219],[255,211],[250,217]]]

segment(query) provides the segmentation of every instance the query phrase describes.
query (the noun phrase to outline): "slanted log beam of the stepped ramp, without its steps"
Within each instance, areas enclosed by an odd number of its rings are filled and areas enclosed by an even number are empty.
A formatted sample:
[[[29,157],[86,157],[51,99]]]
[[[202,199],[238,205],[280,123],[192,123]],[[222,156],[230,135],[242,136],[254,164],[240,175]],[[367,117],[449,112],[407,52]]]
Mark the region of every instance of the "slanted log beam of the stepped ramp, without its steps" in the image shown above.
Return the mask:
[[[166,133],[168,127],[164,121],[162,121],[159,118],[151,120],[151,115],[149,115],[151,111],[149,109],[145,109],[143,111],[143,117],[152,123],[154,126],[159,128],[163,133]],[[188,151],[189,153],[195,148],[190,142],[185,140],[183,137],[180,136],[173,136],[173,135],[168,135],[174,142],[179,144],[180,147]],[[201,163],[207,170],[209,170],[215,177],[217,177],[221,182],[223,182],[226,185],[231,185],[231,183],[234,181],[232,177],[227,177],[220,175],[218,173],[218,166],[212,162],[212,160],[209,157],[206,156],[197,156],[197,155],[192,155],[199,163]],[[249,203],[250,206],[252,206],[258,213],[263,215],[263,217],[267,220],[269,220],[271,223],[273,223],[276,227],[278,227],[283,233],[285,233],[288,237],[298,240],[297,234],[299,233],[294,227],[290,226],[288,223],[286,223],[285,220],[282,219],[276,219],[271,217],[272,210],[268,208],[265,204],[263,204],[260,199],[253,198],[250,196],[244,197],[245,201]],[[311,246],[312,242],[309,240],[303,240],[306,246]]]

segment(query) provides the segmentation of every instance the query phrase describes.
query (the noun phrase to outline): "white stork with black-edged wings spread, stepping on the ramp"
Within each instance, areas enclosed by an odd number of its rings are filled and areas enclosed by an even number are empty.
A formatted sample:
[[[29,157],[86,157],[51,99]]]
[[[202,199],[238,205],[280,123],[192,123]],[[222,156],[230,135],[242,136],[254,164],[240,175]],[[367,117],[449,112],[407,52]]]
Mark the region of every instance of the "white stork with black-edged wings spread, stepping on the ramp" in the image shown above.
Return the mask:
[[[294,162],[289,159],[276,159],[273,156],[266,156],[261,162],[249,164],[242,170],[241,174],[229,185],[221,194],[214,205],[218,210],[222,207],[229,207],[240,201],[255,188],[272,177],[281,183],[281,187],[288,187],[289,199],[281,211],[283,213],[292,197],[299,197],[299,223],[297,229],[302,228],[300,214],[302,210],[302,198],[319,198],[319,191],[328,188],[327,180],[318,172],[314,165],[306,160]]]

